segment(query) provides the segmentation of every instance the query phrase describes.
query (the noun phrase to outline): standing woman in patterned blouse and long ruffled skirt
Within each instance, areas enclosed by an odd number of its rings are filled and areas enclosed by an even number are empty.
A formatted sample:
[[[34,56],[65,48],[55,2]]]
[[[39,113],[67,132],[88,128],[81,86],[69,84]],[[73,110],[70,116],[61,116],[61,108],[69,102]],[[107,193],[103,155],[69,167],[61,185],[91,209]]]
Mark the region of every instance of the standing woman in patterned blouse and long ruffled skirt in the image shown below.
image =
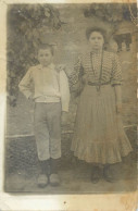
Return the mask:
[[[131,151],[121,117],[121,65],[115,53],[104,50],[102,28],[89,28],[86,35],[91,50],[78,60],[72,75],[73,84],[81,82],[83,89],[71,149],[79,160],[91,163],[92,183],[102,175],[114,182],[111,165]]]

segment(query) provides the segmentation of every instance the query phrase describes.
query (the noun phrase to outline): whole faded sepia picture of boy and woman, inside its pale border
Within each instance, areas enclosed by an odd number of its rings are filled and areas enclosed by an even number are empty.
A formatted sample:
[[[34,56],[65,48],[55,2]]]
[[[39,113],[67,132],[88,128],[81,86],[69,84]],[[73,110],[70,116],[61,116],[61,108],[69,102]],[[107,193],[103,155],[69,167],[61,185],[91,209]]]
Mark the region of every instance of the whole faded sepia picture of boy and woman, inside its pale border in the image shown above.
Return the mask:
[[[136,3],[9,4],[4,191],[137,189]]]

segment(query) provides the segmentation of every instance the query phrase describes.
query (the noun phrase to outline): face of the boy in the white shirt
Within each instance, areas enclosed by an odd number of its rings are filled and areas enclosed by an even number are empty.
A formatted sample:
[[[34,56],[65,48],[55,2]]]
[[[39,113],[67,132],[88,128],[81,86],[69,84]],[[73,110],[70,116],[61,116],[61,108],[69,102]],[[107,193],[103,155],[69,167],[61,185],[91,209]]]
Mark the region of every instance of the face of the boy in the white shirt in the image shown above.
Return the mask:
[[[38,61],[42,66],[48,66],[53,60],[50,49],[40,49],[38,51]]]

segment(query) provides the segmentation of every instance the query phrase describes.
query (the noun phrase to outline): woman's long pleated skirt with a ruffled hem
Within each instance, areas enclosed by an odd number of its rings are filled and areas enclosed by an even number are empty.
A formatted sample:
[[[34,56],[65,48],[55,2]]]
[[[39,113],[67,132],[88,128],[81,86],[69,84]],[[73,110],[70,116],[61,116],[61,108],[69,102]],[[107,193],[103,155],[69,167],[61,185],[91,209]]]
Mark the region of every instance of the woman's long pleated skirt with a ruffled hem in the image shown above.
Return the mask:
[[[71,150],[79,160],[112,164],[131,151],[111,85],[87,85],[79,98]]]

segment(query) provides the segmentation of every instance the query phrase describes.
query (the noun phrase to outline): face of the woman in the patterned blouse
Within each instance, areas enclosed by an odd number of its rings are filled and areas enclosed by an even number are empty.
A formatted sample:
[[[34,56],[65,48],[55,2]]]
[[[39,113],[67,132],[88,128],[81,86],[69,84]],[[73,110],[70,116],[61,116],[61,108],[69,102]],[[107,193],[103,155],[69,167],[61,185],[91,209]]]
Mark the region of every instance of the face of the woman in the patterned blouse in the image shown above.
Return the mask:
[[[103,47],[104,38],[101,33],[92,32],[89,36],[89,42],[95,50],[100,50]]]

